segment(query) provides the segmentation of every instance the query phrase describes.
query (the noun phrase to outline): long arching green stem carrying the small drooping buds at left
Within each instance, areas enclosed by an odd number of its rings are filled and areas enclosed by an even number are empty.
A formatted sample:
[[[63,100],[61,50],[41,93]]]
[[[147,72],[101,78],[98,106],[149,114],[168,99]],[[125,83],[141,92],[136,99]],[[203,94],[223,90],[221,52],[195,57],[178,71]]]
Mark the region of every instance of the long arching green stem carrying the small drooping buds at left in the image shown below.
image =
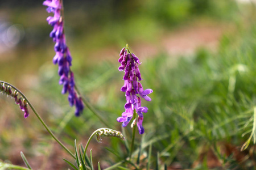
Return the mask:
[[[20,90],[18,90],[18,88],[14,87],[13,85],[11,85],[11,84],[9,84],[9,83],[6,83],[6,82],[3,82],[3,81],[0,81],[0,83],[5,83],[5,84],[11,86],[11,87],[14,88],[16,91],[19,92],[19,94],[27,101],[28,105],[30,105],[30,108],[32,109],[32,111],[35,113],[36,117],[38,117],[38,119],[39,119],[40,122],[43,124],[44,128],[46,128],[46,130],[48,131],[48,133],[52,136],[52,138],[55,139],[55,141],[56,141],[57,143],[59,143],[59,145],[60,145],[61,147],[63,147],[64,150],[67,151],[68,154],[71,155],[71,156],[75,159],[76,156],[75,156],[74,154],[72,154],[72,152],[69,151],[68,148],[65,147],[65,146],[63,145],[63,143],[61,143],[61,142],[59,141],[59,139],[57,139],[57,138],[55,137],[55,135],[54,135],[54,134],[52,133],[52,131],[48,128],[48,126],[47,126],[46,123],[43,121],[43,119],[39,116],[38,112],[36,112],[35,108],[32,106],[32,104],[30,103],[30,101],[28,101],[27,97],[26,97],[25,95],[23,95],[23,93],[22,93]]]

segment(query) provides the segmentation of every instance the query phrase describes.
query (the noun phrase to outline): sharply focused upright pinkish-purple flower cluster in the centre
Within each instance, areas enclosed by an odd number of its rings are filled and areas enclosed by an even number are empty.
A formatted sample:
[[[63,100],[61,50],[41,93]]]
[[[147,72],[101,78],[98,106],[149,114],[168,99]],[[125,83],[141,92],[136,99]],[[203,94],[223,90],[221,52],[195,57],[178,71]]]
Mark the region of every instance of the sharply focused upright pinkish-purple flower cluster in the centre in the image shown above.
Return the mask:
[[[118,122],[123,122],[122,126],[125,127],[129,124],[131,118],[133,118],[134,109],[138,114],[137,126],[139,129],[139,134],[144,133],[144,128],[142,126],[143,122],[143,113],[148,111],[147,107],[141,107],[141,97],[146,101],[151,101],[148,94],[151,94],[153,91],[148,88],[143,90],[142,84],[138,81],[141,81],[141,73],[139,71],[139,58],[135,54],[130,53],[129,48],[123,48],[120,52],[120,58],[118,62],[121,63],[119,66],[119,71],[125,70],[125,75],[123,80],[125,84],[121,88],[122,92],[125,92],[126,104],[125,112],[122,113],[121,117],[117,118]],[[141,97],[139,97],[139,96]]]

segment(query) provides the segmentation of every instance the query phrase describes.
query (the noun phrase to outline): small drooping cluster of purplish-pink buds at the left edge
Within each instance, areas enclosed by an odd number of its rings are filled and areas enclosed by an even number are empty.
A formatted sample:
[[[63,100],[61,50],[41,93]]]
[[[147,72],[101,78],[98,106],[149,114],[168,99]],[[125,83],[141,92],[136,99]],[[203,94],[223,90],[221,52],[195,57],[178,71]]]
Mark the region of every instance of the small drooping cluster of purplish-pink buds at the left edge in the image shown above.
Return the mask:
[[[27,101],[23,99],[23,97],[18,97],[19,92],[16,90],[12,90],[11,86],[6,85],[5,83],[0,84],[0,92],[7,96],[11,96],[11,98],[15,99],[15,103],[19,105],[19,108],[22,109],[24,112],[24,118],[29,116],[28,109],[27,109]]]

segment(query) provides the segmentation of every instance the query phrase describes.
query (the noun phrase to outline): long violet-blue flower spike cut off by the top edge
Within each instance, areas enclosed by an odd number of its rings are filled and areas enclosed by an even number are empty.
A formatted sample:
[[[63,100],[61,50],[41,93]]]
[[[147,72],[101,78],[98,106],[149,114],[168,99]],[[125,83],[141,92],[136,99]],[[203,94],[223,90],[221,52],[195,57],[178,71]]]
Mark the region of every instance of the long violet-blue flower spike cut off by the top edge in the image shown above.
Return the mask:
[[[61,0],[46,0],[43,5],[48,6],[47,12],[52,12],[53,16],[48,16],[47,21],[49,25],[53,27],[50,37],[53,42],[56,42],[54,50],[56,52],[53,57],[53,63],[59,65],[59,84],[63,85],[62,94],[68,92],[68,101],[71,107],[76,106],[75,115],[79,116],[84,109],[82,99],[75,90],[74,74],[71,71],[71,53],[69,52],[68,46],[65,40],[64,28],[63,28],[63,17],[61,16]]]

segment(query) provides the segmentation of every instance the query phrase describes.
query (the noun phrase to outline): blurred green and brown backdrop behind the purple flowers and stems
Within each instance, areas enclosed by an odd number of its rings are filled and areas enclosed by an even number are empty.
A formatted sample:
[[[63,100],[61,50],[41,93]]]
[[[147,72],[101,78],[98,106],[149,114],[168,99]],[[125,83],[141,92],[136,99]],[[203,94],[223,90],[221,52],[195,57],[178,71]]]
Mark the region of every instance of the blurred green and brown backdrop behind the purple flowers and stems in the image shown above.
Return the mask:
[[[42,3],[0,1],[0,79],[21,90],[73,150],[75,139],[85,145],[104,125],[86,108],[75,117],[68,96],[61,95],[46,22],[52,14]],[[254,168],[255,147],[240,148],[253,132],[255,5],[253,0],[64,1],[76,84],[115,130],[122,130],[116,118],[126,103],[119,51],[127,43],[142,62],[141,83],[154,92],[150,103],[142,103],[149,110],[145,134],[135,139],[139,167],[145,167],[152,145],[152,169],[157,162],[168,169]],[[130,143],[129,125],[125,131]],[[126,158],[123,141],[102,139],[89,146],[94,163],[106,168]],[[34,113],[25,120],[14,100],[1,95],[0,159],[24,165],[20,151],[34,169],[69,168],[62,158],[71,158]]]

